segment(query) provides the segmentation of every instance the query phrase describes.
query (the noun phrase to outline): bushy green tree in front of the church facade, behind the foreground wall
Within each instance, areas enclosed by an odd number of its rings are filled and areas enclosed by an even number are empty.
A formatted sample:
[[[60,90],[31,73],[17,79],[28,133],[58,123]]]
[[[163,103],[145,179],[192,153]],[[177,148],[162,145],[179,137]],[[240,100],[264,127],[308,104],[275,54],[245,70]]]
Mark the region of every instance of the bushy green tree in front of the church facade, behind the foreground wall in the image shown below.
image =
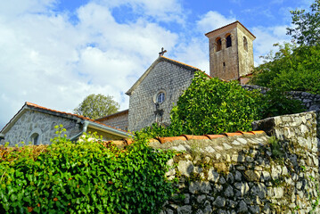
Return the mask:
[[[265,106],[264,97],[258,91],[245,90],[235,81],[208,78],[199,71],[172,109],[170,126],[153,125],[142,132],[152,136],[180,136],[247,131],[253,120],[261,119]]]

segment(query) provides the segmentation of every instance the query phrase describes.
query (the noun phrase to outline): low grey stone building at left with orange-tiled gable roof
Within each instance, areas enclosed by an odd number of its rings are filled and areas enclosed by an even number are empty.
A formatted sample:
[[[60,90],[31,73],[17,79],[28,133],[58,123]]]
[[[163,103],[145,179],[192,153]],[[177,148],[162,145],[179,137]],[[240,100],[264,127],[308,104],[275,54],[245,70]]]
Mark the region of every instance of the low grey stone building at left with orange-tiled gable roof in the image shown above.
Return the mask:
[[[132,136],[127,131],[107,126],[93,119],[27,102],[1,130],[0,143],[50,144],[50,139],[56,136],[54,127],[61,124],[67,129],[65,134],[71,140],[78,139],[84,132],[97,132],[99,136],[103,136],[103,140],[118,140]]]

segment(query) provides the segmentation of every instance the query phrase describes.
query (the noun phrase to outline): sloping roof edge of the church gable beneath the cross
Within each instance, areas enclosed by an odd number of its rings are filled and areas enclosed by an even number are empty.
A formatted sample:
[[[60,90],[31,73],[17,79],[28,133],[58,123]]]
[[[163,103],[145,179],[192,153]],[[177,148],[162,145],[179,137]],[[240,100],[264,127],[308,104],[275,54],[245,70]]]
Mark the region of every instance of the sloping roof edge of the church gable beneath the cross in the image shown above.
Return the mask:
[[[185,68],[186,70],[192,70],[192,71],[196,71],[196,70],[199,70],[198,68],[196,67],[193,67],[191,65],[188,65],[188,64],[185,64],[183,62],[178,62],[178,61],[175,61],[175,60],[172,60],[172,59],[169,59],[168,57],[165,57],[165,56],[162,56],[160,55],[158,57],[158,59],[152,63],[152,65],[147,69],[145,70],[144,74],[135,82],[135,84],[133,86],[131,86],[131,88],[127,91],[126,95],[131,95],[131,93],[135,90],[135,88],[137,86],[140,85],[140,83],[142,83],[142,81],[144,81],[144,78],[146,78],[148,76],[148,74],[150,73],[150,71],[152,71],[152,69],[159,63],[159,62],[169,62],[171,64],[175,64],[176,66],[179,66],[179,67],[183,67]]]

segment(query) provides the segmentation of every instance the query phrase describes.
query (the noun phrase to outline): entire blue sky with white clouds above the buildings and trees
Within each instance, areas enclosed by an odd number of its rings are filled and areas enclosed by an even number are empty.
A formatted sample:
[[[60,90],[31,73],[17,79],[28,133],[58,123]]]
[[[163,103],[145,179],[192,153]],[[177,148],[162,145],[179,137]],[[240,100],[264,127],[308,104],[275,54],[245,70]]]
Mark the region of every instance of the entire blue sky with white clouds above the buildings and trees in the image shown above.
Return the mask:
[[[10,0],[0,2],[0,129],[25,102],[73,111],[90,94],[128,108],[127,90],[157,59],[209,72],[210,30],[241,21],[255,63],[290,41],[290,10],[311,0]]]

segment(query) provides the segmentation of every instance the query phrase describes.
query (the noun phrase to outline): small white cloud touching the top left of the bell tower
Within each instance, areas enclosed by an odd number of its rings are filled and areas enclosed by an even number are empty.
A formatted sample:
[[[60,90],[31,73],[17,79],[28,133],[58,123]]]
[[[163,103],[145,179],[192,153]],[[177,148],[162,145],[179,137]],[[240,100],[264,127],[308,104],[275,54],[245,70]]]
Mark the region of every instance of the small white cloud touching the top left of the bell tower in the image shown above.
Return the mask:
[[[234,21],[236,21],[236,19],[233,16],[226,17],[219,12],[209,11],[201,17],[201,20],[197,22],[197,25],[199,30],[207,33],[213,29],[221,28]]]

